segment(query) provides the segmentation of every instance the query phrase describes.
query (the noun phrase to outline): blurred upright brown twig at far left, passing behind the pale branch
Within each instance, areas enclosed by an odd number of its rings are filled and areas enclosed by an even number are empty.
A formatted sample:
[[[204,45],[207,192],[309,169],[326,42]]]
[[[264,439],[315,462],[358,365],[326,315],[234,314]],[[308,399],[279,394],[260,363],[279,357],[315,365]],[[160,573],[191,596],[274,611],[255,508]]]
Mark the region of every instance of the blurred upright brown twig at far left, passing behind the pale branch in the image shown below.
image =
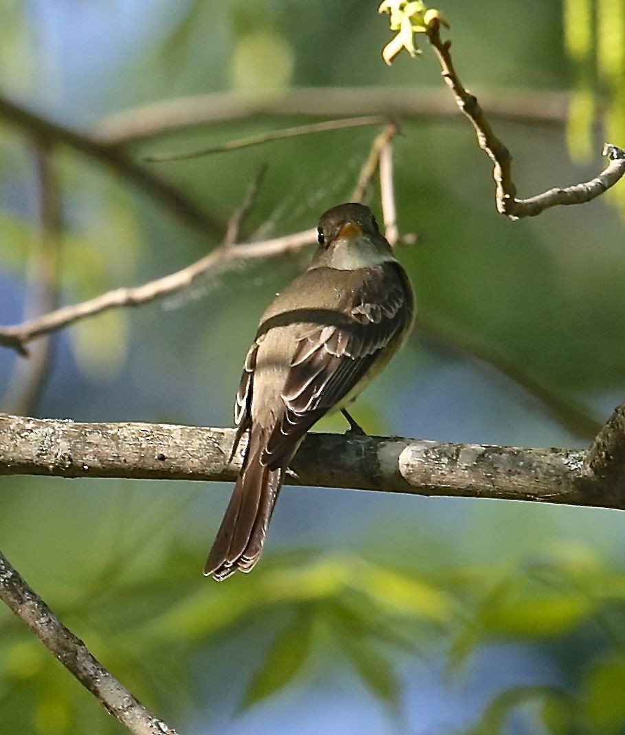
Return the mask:
[[[37,171],[37,207],[40,237],[29,259],[24,299],[24,320],[28,321],[51,312],[59,294],[59,264],[61,240],[61,207],[57,177],[50,161],[46,143],[33,144]],[[5,392],[4,405],[12,413],[28,415],[34,412],[50,371],[52,344],[46,337],[31,351],[28,361],[19,360]]]

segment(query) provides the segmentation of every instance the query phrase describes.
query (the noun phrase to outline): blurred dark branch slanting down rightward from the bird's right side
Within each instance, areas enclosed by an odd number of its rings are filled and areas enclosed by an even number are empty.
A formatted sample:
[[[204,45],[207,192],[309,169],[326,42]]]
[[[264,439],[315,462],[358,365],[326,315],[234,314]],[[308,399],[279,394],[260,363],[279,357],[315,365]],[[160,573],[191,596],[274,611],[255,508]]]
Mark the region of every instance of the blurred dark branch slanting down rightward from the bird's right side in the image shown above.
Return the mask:
[[[415,334],[431,337],[446,348],[472,356],[502,373],[536,398],[546,412],[561,426],[571,431],[571,434],[590,440],[601,429],[601,422],[591,414],[587,407],[557,395],[541,381],[528,375],[516,362],[507,359],[488,345],[467,337],[466,333],[458,330],[452,331],[423,315],[417,315]]]

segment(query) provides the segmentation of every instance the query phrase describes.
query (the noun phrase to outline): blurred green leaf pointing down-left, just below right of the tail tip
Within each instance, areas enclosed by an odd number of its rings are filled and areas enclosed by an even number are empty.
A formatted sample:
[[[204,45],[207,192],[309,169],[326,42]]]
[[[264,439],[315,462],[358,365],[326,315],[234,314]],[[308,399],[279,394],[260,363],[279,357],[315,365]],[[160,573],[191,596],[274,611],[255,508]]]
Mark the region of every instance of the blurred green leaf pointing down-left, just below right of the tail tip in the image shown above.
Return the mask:
[[[242,700],[247,709],[279,692],[300,673],[311,650],[314,615],[300,612],[275,639]]]

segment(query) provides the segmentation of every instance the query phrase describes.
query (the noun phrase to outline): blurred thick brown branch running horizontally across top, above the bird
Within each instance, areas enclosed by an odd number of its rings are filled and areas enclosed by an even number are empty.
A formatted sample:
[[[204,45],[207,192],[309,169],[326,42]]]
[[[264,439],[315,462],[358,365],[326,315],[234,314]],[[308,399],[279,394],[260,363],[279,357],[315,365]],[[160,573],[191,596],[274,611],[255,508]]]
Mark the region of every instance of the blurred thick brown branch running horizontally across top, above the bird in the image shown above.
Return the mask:
[[[480,97],[488,114],[502,121],[562,129],[568,120],[568,93],[506,87],[483,90]],[[93,136],[102,143],[121,145],[259,115],[458,119],[455,106],[444,90],[435,87],[292,87],[268,101],[253,101],[249,95],[236,92],[220,92],[152,102],[109,115],[98,123]]]

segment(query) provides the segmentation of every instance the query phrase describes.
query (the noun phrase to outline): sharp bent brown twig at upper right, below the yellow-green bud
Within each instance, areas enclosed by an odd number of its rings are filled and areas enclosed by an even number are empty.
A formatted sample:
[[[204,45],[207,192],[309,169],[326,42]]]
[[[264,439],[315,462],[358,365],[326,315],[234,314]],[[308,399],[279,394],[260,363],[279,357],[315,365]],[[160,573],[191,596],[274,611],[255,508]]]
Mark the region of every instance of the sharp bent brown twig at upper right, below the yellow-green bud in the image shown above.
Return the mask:
[[[467,92],[460,82],[449,54],[451,41],[441,40],[440,25],[438,19],[431,21],[427,26],[427,38],[438,57],[445,84],[452,90],[461,112],[471,121],[477,135],[477,144],[493,162],[497,212],[511,220],[518,220],[522,217],[535,217],[545,209],[560,204],[584,204],[600,196],[621,179],[625,173],[625,151],[606,143],[602,155],[607,156],[610,163],[595,179],[566,189],[550,189],[529,199],[516,198],[516,186],[512,178],[512,155],[495,135],[477,97]]]

